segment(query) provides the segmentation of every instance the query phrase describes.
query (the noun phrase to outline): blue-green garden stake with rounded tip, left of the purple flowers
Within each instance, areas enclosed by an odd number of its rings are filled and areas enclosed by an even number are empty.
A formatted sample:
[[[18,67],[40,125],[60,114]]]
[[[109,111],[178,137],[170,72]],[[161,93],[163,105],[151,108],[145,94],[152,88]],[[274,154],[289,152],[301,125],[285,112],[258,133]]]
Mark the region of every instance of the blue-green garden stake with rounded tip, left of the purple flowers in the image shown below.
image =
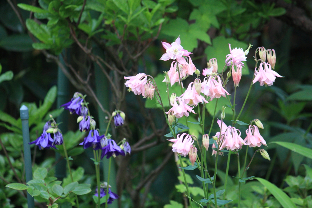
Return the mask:
[[[23,105],[20,108],[20,116],[22,119],[22,131],[23,131],[23,144],[24,144],[24,167],[25,167],[25,175],[26,175],[26,183],[30,180],[32,180],[32,157],[30,154],[30,139],[29,139],[29,124],[28,124],[28,108]],[[34,197],[32,197],[27,192],[27,205],[28,208],[34,208],[35,207],[35,201]]]

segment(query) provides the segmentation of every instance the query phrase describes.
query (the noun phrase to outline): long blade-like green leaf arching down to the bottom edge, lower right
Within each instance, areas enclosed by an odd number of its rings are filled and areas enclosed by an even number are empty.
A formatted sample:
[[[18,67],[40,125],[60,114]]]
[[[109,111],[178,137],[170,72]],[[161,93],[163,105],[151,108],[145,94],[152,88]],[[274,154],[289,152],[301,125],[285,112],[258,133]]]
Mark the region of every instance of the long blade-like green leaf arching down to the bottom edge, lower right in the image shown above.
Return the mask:
[[[290,200],[289,196],[287,196],[284,191],[275,186],[273,183],[263,178],[256,177],[255,179],[257,179],[263,186],[265,186],[284,208],[297,208],[294,202]]]

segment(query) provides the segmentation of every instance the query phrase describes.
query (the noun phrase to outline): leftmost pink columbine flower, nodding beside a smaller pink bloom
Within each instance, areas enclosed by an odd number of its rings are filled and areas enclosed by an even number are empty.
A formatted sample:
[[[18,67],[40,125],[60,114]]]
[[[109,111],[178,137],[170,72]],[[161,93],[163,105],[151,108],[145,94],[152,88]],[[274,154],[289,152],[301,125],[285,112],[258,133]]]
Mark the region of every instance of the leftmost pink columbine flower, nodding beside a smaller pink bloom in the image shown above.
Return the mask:
[[[127,80],[126,87],[129,87],[129,91],[133,91],[135,95],[142,94],[145,97],[144,85],[147,82],[146,74],[139,73],[135,76],[124,76],[124,79]]]

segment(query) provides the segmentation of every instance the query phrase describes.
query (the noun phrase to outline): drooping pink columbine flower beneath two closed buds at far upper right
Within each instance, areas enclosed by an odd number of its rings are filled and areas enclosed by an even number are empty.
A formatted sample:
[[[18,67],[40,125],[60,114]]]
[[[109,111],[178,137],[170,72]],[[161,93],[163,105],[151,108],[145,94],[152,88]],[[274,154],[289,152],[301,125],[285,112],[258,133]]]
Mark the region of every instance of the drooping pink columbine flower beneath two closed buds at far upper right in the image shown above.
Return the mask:
[[[260,86],[271,86],[273,85],[276,77],[283,76],[272,70],[270,64],[261,62],[261,64],[259,65],[259,71],[257,71],[257,68],[255,69],[255,79],[252,81],[252,83],[255,84],[257,81],[259,81]]]

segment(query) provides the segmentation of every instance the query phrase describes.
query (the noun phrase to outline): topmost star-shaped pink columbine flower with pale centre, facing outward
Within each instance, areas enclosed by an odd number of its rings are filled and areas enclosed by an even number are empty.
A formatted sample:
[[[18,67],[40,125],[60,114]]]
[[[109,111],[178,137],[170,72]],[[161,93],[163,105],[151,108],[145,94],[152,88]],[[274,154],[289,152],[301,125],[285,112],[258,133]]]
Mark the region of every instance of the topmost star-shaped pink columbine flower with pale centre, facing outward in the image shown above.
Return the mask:
[[[181,40],[180,36],[178,36],[177,40],[175,40],[173,43],[169,44],[166,42],[162,42],[163,47],[167,50],[166,53],[163,54],[163,56],[159,60],[177,60],[180,64],[188,64],[186,60],[182,56],[189,56],[192,54],[191,52],[188,52],[187,50],[183,49],[181,46]]]

